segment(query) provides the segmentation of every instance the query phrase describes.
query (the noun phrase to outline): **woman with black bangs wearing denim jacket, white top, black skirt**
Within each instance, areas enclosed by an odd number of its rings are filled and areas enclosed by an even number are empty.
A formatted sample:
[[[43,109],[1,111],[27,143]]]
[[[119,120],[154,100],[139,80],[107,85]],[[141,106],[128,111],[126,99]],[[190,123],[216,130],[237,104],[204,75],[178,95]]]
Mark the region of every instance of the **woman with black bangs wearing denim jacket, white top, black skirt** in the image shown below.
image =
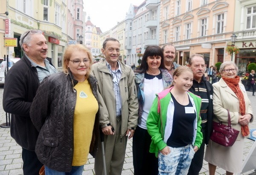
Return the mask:
[[[149,152],[151,136],[148,134],[146,121],[155,94],[172,83],[172,75],[164,69],[163,52],[159,46],[148,46],[145,50],[138,73],[135,74],[135,83],[139,118],[132,146],[134,175],[157,175],[158,160]]]

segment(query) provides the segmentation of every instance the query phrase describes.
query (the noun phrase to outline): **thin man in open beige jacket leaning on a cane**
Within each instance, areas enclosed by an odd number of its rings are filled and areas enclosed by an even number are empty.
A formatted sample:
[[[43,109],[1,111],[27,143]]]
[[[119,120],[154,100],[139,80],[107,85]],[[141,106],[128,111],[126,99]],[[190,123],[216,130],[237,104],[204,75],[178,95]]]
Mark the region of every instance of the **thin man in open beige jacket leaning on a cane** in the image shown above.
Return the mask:
[[[134,72],[118,60],[119,52],[119,41],[107,38],[102,48],[105,60],[92,66],[92,72],[98,80],[99,93],[109,114],[108,118],[100,118],[100,126],[104,134],[107,174],[111,175],[122,173],[127,139],[133,137],[138,119]],[[94,168],[96,175],[104,173],[101,149],[96,154]]]

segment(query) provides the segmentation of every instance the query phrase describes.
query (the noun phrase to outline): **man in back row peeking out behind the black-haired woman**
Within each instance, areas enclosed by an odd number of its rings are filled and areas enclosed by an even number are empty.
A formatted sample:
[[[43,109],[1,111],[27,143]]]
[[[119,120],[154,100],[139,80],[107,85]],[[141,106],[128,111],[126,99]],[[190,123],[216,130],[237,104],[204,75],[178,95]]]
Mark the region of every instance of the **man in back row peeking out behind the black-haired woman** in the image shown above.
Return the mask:
[[[164,66],[169,74],[173,75],[174,70],[180,65],[177,63],[173,63],[173,60],[176,56],[176,49],[172,44],[166,44],[162,47],[163,50],[163,58],[164,58]]]

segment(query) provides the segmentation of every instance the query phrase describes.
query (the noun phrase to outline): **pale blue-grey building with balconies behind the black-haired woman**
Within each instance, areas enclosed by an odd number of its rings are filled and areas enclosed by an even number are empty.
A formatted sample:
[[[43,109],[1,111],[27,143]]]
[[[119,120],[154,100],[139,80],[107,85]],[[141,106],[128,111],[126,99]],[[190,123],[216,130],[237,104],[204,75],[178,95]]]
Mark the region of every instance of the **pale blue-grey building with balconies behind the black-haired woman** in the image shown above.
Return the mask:
[[[160,31],[160,0],[145,0],[140,6],[130,5],[125,17],[126,63],[139,65],[145,49],[158,45]],[[140,49],[141,48],[141,49]]]

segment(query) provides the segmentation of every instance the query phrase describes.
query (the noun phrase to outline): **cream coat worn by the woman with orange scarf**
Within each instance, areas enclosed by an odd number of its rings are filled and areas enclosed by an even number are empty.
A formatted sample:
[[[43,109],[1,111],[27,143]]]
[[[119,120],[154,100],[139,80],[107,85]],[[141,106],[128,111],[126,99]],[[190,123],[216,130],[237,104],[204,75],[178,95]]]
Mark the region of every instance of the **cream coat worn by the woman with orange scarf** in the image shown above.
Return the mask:
[[[227,125],[228,115],[227,109],[230,110],[230,119],[231,126],[239,131],[241,131],[241,125],[238,123],[239,119],[239,99],[236,97],[236,94],[227,86],[227,83],[221,78],[217,83],[213,85],[213,120],[216,122],[222,121],[223,124]],[[247,96],[246,90],[242,83],[239,83],[240,89],[244,95],[245,101],[245,114],[253,115],[253,110],[250,105],[250,100]],[[251,118],[250,122],[253,121]],[[241,139],[241,132],[237,140]]]

